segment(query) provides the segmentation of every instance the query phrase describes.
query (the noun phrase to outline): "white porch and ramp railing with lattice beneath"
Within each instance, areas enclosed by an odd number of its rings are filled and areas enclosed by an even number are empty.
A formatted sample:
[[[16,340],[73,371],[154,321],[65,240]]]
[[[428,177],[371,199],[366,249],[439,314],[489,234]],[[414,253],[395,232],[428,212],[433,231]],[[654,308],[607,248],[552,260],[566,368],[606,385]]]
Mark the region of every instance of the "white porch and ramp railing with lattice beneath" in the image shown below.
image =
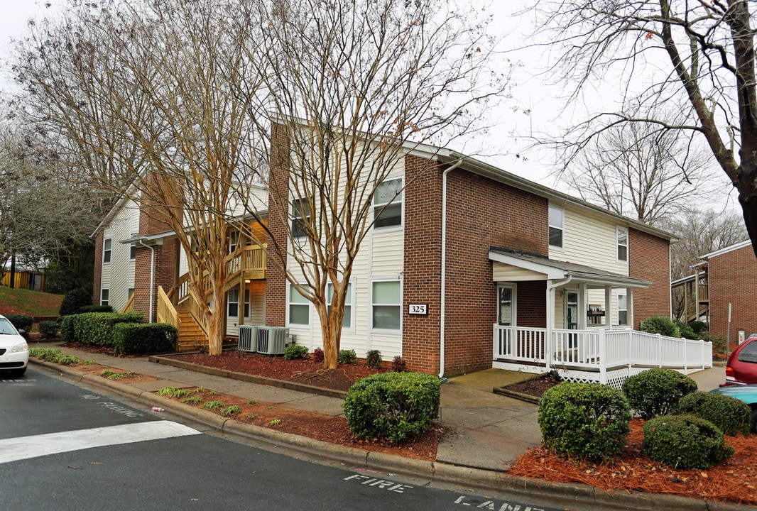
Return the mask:
[[[563,379],[619,386],[652,367],[684,373],[712,367],[712,343],[628,328],[563,330],[494,325],[494,367],[556,369]]]

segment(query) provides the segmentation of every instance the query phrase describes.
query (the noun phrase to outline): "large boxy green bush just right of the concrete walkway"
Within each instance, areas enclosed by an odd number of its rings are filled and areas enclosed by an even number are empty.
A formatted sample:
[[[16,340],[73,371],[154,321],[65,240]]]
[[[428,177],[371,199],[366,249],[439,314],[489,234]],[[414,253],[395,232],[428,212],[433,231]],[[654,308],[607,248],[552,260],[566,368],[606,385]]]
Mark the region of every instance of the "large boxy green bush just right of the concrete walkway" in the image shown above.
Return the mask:
[[[544,392],[537,416],[544,446],[562,456],[610,460],[631,432],[621,391],[597,383],[562,382]]]

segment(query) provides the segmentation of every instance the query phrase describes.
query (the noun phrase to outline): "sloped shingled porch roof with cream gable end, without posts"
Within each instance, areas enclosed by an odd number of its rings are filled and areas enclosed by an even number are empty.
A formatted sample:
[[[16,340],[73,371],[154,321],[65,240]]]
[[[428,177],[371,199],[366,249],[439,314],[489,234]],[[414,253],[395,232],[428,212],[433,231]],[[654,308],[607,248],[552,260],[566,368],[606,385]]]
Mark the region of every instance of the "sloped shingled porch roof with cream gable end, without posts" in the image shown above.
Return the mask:
[[[525,282],[530,280],[563,280],[571,277],[572,283],[616,288],[648,288],[652,282],[611,273],[583,264],[566,263],[534,254],[510,251],[506,248],[489,248],[494,282]]]

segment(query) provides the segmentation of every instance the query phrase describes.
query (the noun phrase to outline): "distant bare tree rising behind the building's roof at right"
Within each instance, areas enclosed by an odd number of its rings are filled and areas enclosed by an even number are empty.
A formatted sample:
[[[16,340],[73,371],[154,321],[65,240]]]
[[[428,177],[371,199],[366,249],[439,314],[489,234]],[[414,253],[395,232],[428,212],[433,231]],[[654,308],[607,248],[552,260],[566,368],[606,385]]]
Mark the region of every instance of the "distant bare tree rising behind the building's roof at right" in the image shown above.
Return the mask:
[[[709,154],[677,132],[631,123],[588,142],[560,177],[585,201],[659,225],[690,204],[712,199],[709,163]]]

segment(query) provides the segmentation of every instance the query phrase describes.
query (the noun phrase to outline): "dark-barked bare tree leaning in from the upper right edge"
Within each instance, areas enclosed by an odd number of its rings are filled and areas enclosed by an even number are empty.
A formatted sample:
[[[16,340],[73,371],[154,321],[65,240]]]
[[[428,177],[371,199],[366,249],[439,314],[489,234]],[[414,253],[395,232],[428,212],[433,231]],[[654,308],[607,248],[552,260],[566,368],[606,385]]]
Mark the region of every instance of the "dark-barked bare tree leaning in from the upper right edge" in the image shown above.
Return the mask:
[[[593,114],[562,142],[580,150],[603,130],[627,123],[646,123],[684,139],[693,133],[738,190],[757,254],[757,83],[750,2],[544,0],[533,8],[537,36],[547,37],[555,51],[550,71],[575,86],[570,98],[606,79],[626,105],[625,111]],[[674,107],[684,117],[665,115]]]

